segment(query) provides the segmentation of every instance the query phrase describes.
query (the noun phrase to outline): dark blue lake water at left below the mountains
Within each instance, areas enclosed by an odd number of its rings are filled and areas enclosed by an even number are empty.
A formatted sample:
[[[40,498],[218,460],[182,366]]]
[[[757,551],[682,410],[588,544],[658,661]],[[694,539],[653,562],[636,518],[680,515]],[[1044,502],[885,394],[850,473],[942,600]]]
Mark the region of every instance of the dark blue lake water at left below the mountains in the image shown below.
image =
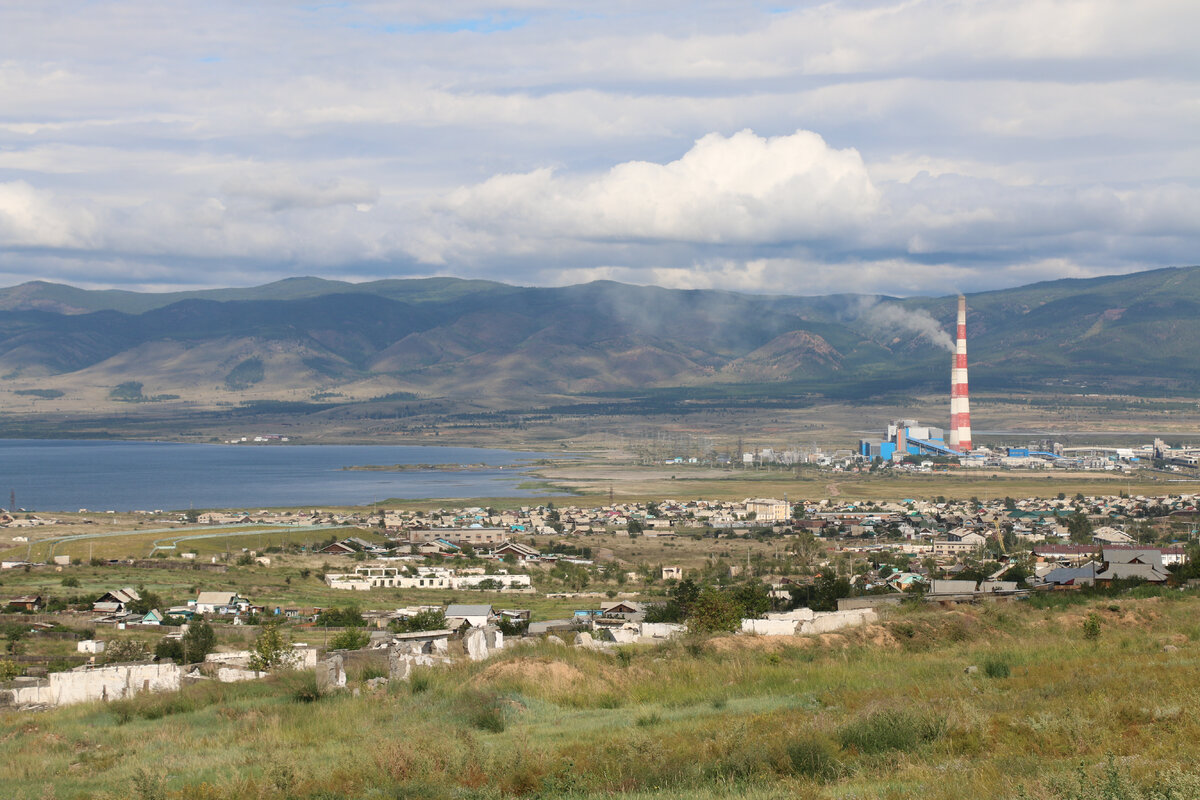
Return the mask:
[[[389,498],[533,497],[520,465],[546,453],[394,445],[0,440],[0,506],[43,511],[367,505]],[[486,464],[364,471],[371,464]],[[502,469],[504,468],[504,469]],[[541,493],[539,493],[541,494]]]

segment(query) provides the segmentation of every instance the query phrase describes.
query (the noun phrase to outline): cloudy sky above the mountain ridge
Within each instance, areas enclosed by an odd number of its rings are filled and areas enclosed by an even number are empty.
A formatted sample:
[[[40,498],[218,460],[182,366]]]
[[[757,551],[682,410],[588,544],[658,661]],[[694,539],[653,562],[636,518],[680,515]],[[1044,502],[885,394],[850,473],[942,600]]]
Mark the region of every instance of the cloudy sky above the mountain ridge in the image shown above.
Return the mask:
[[[0,284],[1196,264],[1196,30],[1180,0],[0,0]]]

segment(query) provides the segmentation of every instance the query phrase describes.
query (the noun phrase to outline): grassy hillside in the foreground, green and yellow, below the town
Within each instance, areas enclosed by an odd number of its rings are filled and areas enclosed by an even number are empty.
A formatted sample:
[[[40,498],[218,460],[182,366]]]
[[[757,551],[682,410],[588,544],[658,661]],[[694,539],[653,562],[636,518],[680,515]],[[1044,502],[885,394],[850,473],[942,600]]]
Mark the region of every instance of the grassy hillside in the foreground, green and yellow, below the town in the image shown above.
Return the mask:
[[[0,795],[1195,798],[1198,610],[901,608],[846,634],[516,648],[359,697],[281,675],[5,712]]]

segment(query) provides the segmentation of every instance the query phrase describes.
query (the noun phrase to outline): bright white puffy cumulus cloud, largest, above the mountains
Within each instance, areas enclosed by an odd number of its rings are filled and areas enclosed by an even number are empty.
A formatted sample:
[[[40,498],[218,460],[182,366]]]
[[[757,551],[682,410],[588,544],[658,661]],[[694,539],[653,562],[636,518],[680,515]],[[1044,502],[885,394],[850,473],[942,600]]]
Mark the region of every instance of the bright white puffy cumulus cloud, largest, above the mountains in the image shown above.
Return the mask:
[[[630,161],[592,175],[496,175],[437,204],[509,234],[607,241],[746,243],[842,234],[875,212],[862,156],[810,131],[709,133],[678,161]]]

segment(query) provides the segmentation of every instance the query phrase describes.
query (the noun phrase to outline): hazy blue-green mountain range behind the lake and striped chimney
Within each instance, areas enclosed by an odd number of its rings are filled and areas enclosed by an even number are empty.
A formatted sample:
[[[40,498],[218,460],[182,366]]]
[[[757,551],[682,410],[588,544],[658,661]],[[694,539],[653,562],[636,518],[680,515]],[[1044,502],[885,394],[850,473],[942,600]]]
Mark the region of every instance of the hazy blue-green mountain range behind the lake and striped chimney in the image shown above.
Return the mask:
[[[1200,384],[1200,267],[968,295],[972,383],[1154,395]],[[247,289],[0,290],[0,389],[96,402],[522,402],[692,387],[941,391],[954,297],[762,296],[596,282],[292,278]],[[704,389],[707,387],[707,389]],[[690,390],[684,390],[690,391]]]

